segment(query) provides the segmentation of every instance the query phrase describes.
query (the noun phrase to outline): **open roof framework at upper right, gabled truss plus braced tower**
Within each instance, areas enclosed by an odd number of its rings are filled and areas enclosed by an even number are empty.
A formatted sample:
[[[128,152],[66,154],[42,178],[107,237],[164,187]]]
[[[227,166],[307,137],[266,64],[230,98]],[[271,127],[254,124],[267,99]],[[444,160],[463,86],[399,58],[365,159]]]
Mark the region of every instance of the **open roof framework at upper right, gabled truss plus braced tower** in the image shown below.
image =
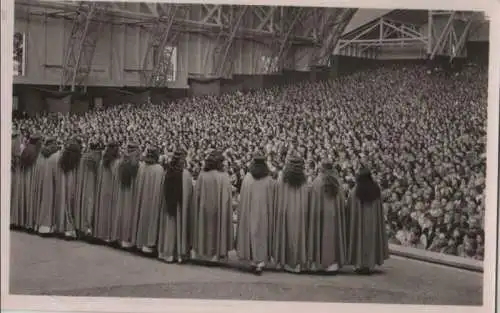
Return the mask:
[[[335,54],[376,58],[382,48],[413,47],[430,59],[442,55],[453,60],[464,54],[474,22],[484,20],[479,12],[408,11],[400,17],[401,14],[395,10],[344,34]],[[412,14],[413,18],[408,18]]]

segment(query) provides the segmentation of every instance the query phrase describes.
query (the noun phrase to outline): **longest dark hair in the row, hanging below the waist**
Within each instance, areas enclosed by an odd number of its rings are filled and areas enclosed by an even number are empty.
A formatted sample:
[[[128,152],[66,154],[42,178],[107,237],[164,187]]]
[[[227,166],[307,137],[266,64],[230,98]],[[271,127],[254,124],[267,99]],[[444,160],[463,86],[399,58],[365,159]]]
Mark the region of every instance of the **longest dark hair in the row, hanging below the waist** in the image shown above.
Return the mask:
[[[182,205],[183,173],[185,165],[185,154],[176,151],[172,160],[167,165],[167,174],[163,184],[163,194],[167,204],[167,214],[170,217],[177,216],[177,206]]]

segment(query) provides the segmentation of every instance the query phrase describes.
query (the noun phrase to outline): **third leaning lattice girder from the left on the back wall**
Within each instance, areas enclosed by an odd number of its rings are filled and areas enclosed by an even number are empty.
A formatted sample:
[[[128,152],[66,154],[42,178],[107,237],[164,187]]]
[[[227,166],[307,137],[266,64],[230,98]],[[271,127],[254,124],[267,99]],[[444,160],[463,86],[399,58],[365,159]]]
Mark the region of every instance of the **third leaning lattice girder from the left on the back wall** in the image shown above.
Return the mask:
[[[239,31],[243,16],[249,10],[249,6],[233,6],[231,7],[231,14],[229,18],[229,35],[222,40],[222,44],[216,46],[214,50],[214,61],[215,61],[215,76],[216,77],[226,77],[230,74],[232,58],[231,49],[233,47],[233,42],[236,37],[236,33]]]

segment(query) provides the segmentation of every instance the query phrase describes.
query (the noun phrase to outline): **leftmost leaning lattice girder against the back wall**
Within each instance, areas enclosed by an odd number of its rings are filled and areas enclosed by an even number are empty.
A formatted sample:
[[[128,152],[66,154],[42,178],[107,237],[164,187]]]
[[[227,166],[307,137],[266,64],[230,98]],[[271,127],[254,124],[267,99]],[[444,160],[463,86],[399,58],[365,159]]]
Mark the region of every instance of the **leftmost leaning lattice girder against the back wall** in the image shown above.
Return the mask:
[[[64,54],[59,86],[61,91],[68,87],[71,91],[75,91],[77,86],[86,88],[102,20],[108,6],[106,2],[82,2],[77,9]]]

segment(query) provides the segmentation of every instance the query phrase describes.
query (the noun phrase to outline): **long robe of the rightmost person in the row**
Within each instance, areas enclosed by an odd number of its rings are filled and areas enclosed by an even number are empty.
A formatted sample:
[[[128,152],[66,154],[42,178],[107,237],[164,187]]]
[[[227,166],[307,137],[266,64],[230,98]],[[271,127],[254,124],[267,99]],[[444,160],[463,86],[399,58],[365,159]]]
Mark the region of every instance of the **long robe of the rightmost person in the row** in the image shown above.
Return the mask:
[[[380,198],[363,203],[356,197],[356,188],[347,200],[347,264],[371,270],[389,258],[384,209]]]

